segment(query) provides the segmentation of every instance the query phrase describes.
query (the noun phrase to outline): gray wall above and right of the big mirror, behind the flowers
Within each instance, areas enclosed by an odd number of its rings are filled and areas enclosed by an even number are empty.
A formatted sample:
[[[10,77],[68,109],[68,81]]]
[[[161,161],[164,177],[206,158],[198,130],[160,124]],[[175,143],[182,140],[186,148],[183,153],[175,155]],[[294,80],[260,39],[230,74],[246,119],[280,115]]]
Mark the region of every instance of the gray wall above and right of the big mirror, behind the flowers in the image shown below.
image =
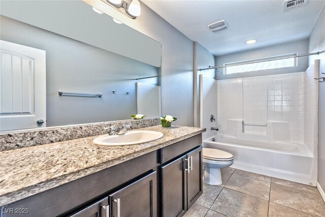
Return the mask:
[[[162,44],[161,113],[177,117],[175,125],[193,126],[193,42],[142,2],[136,19],[100,1],[89,4]]]

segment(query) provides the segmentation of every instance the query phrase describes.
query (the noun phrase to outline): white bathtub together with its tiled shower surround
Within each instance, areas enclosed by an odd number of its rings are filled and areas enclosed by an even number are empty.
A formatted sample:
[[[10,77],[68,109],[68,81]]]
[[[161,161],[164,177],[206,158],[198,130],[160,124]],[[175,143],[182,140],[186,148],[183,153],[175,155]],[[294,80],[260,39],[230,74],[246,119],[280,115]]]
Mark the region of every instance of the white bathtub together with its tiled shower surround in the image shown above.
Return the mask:
[[[234,168],[316,186],[317,76],[318,60],[300,73],[229,80],[203,76],[203,118],[216,113],[212,124],[219,128],[211,132],[211,123],[202,122],[204,146],[234,154]]]

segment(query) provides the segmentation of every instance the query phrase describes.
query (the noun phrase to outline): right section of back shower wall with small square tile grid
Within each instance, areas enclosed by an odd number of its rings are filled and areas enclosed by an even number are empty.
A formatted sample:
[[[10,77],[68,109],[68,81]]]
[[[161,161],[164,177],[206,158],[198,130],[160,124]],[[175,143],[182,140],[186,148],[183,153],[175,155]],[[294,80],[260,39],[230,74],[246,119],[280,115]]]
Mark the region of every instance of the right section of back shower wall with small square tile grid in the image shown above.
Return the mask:
[[[274,140],[304,143],[304,72],[268,76],[268,121]]]

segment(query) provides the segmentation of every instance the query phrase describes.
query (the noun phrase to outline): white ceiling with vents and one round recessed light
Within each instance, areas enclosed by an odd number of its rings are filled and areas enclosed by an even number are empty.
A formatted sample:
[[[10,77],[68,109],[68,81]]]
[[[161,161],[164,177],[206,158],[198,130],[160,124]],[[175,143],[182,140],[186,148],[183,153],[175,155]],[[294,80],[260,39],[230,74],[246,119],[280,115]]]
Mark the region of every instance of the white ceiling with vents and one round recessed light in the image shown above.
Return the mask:
[[[214,55],[306,39],[325,1],[284,12],[283,1],[141,0],[192,41]],[[211,33],[208,24],[225,20],[230,29]],[[258,39],[252,45],[244,42]]]

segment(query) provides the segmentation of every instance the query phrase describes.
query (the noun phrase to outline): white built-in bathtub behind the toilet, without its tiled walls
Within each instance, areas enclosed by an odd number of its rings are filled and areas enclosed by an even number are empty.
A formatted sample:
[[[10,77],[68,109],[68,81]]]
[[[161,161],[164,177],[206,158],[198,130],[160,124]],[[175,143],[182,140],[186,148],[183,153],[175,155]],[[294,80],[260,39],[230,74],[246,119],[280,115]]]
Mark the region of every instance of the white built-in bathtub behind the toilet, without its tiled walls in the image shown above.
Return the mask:
[[[316,186],[316,161],[305,144],[217,135],[205,139],[203,147],[232,153],[233,168]]]

